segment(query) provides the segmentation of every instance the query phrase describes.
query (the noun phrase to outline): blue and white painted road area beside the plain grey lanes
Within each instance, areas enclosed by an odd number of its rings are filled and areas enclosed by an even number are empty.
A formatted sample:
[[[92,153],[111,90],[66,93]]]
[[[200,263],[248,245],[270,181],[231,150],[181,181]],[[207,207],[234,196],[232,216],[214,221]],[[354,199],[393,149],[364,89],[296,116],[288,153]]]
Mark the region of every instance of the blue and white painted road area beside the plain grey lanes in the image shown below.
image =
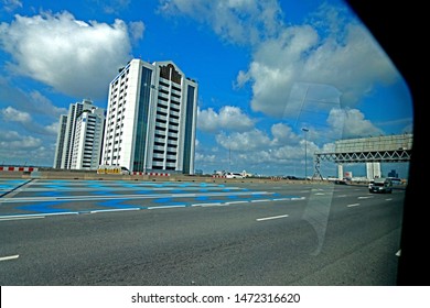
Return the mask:
[[[7,182],[0,180],[0,189],[4,189],[4,188],[13,189],[18,185],[23,185],[25,183],[26,180],[7,180]],[[39,191],[33,191],[34,202],[32,202],[33,200],[29,200],[29,202],[31,204],[28,204],[25,206],[20,206],[20,207],[13,206],[13,208],[9,208],[9,209],[11,209],[12,211],[14,209],[14,210],[24,210],[29,212],[36,212],[42,215],[43,213],[55,215],[55,213],[67,213],[67,212],[84,213],[84,212],[89,212],[92,210],[97,211],[100,208],[105,208],[106,210],[108,209],[127,210],[131,208],[148,209],[148,208],[152,208],[151,204],[160,208],[174,207],[174,206],[192,207],[193,205],[204,205],[204,204],[214,205],[214,206],[216,206],[216,204],[219,204],[221,206],[224,205],[233,206],[236,202],[250,204],[251,201],[258,201],[259,199],[264,199],[267,201],[269,200],[282,201],[282,200],[289,200],[289,199],[292,200],[292,199],[302,198],[300,196],[283,196],[278,193],[271,194],[267,191],[256,191],[248,188],[240,188],[240,187],[233,187],[233,186],[226,187],[225,185],[207,184],[207,183],[179,184],[179,183],[151,183],[151,182],[140,182],[140,183],[97,182],[95,183],[94,180],[83,180],[83,182],[40,180],[40,182],[35,182],[34,185],[39,186],[39,188],[36,189]],[[86,196],[78,195],[79,188],[80,191],[85,191],[83,195]],[[164,188],[164,189],[160,189],[160,188]],[[46,189],[46,190],[41,191],[41,189]],[[169,194],[178,194],[178,195],[172,197],[165,195],[166,197],[163,197],[163,195],[160,194],[160,190],[170,190]],[[71,195],[71,191],[73,191],[74,194]],[[129,194],[132,195],[121,198],[122,194],[127,194],[125,191],[131,191]],[[193,194],[193,197],[191,197],[190,195],[184,195],[184,194],[189,194],[190,191],[195,193]],[[200,193],[208,196],[198,196]],[[144,195],[149,195],[148,199]],[[101,198],[97,198],[96,196],[101,196]],[[106,196],[106,198],[104,198],[103,196]],[[133,199],[133,196],[136,196],[136,199]],[[44,199],[44,197],[46,197],[46,199]],[[55,200],[56,197],[60,197],[57,198],[58,200]],[[71,197],[71,199],[68,199],[68,197]],[[136,200],[142,199],[142,197],[144,198],[144,200],[147,200],[146,205],[136,206],[136,204],[139,204]],[[50,198],[51,200],[49,200]],[[74,200],[75,198],[76,200]],[[97,200],[95,200],[94,198],[97,198]],[[64,200],[64,199],[68,199],[68,200]],[[86,208],[85,202],[87,200],[90,202],[89,207],[94,209]],[[135,205],[131,205],[132,202],[135,202]],[[11,201],[9,205],[11,204],[13,204],[13,201]],[[19,205],[19,202],[17,202],[17,205]],[[79,205],[79,210],[76,209],[77,205]],[[58,208],[60,206],[62,208]],[[6,208],[3,208],[3,211],[4,209]]]

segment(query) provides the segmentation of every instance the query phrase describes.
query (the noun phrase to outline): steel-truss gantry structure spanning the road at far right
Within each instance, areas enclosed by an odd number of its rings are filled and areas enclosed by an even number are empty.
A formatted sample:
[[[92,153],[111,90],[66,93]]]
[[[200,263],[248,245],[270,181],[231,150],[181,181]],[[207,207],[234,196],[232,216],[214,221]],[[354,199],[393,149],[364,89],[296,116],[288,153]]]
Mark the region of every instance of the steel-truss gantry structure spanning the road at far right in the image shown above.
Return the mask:
[[[409,162],[412,152],[413,134],[346,139],[335,142],[334,152],[314,153],[313,178],[323,178],[320,172],[322,162],[337,164],[338,177],[343,177],[343,165],[366,163],[367,178],[380,176],[380,163]]]

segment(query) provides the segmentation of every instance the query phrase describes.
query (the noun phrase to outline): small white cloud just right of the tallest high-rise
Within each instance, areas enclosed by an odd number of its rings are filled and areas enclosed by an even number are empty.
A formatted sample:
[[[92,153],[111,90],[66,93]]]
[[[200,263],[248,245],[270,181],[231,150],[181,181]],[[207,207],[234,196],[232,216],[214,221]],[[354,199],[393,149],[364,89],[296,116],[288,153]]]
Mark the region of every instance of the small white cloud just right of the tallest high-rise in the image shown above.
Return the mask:
[[[197,128],[205,132],[219,130],[248,131],[254,127],[255,121],[246,116],[240,108],[224,106],[219,113],[214,109],[198,110]]]

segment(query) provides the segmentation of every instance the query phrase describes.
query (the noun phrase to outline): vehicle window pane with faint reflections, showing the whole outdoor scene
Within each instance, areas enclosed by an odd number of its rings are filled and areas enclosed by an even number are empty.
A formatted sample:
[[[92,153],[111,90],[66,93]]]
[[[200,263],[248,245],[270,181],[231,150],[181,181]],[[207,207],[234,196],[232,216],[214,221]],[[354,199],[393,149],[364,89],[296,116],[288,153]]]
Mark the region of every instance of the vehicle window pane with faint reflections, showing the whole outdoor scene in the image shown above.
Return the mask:
[[[396,285],[412,98],[345,2],[2,4],[0,285]]]

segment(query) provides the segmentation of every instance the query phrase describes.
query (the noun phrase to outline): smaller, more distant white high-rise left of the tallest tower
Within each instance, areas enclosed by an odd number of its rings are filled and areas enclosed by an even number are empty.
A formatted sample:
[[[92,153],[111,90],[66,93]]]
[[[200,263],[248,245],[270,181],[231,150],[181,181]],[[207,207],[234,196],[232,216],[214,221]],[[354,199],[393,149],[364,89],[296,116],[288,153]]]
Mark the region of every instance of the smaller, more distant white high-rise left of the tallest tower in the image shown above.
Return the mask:
[[[83,121],[88,121],[88,123],[85,122],[83,125]],[[71,103],[67,116],[62,114],[60,118],[54,168],[97,168],[100,158],[104,121],[105,109],[93,106],[93,101],[84,99],[82,102]],[[82,135],[83,133],[84,135]],[[76,136],[79,139],[75,144]],[[93,148],[92,154],[88,152],[89,148]],[[75,163],[72,165],[74,150]],[[78,153],[83,153],[83,155],[79,154],[79,156]],[[84,167],[84,165],[88,165],[89,156],[90,167]],[[80,160],[80,163],[77,160]],[[97,163],[95,163],[96,160]],[[96,164],[97,166],[94,167]]]

